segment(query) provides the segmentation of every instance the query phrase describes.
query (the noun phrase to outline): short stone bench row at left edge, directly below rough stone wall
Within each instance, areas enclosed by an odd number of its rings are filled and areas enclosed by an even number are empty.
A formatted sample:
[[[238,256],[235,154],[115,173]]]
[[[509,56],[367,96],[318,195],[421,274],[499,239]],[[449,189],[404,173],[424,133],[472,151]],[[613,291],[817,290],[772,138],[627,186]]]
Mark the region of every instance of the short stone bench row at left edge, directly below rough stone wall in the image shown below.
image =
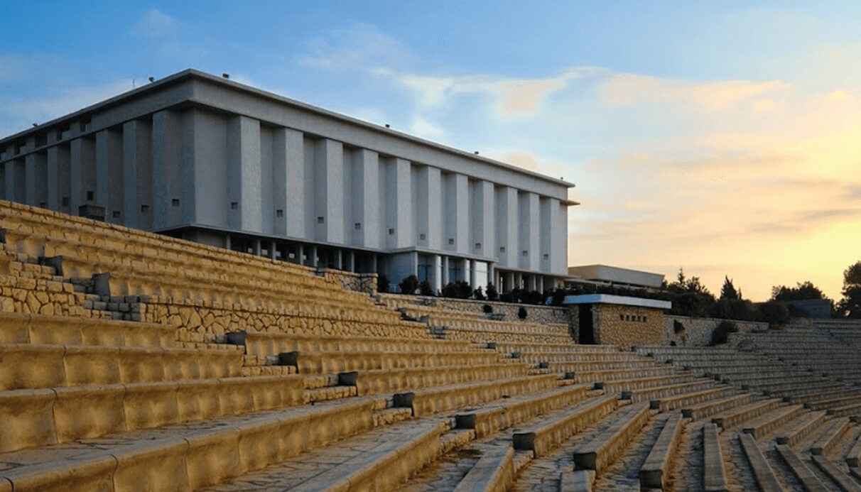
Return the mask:
[[[177,331],[160,324],[0,313],[0,343],[174,347]]]

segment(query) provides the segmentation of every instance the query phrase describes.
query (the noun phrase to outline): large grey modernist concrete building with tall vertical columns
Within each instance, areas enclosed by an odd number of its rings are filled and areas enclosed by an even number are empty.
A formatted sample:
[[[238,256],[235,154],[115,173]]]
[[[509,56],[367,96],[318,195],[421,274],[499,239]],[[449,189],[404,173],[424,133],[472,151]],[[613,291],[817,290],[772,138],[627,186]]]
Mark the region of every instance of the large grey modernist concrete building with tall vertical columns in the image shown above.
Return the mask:
[[[502,290],[567,277],[573,184],[182,71],[0,139],[2,197],[282,261]]]

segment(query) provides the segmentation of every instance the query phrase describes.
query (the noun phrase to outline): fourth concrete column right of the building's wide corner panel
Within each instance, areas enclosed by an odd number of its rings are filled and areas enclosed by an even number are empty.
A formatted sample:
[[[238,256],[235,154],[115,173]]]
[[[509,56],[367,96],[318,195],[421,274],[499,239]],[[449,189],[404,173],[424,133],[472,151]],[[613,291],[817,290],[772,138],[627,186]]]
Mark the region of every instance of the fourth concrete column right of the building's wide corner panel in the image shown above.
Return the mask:
[[[380,244],[380,157],[375,151],[360,149],[353,152],[352,231],[353,243],[369,248]]]

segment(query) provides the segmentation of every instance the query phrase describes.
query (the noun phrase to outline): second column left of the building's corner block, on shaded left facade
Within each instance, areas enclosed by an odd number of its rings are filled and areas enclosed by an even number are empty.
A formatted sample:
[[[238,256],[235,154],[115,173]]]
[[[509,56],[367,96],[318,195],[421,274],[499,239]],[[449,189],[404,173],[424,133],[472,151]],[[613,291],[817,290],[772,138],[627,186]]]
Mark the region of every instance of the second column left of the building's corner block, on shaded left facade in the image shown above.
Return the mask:
[[[105,220],[124,223],[125,181],[122,133],[107,129],[96,133],[96,203],[105,207]],[[114,217],[115,213],[120,217]]]

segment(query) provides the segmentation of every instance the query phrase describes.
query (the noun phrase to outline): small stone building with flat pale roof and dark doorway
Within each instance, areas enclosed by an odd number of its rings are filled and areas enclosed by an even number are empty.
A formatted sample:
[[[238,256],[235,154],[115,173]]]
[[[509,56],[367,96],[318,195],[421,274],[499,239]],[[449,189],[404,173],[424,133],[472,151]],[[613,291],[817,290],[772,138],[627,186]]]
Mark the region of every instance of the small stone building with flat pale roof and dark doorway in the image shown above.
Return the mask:
[[[584,344],[630,347],[664,341],[669,301],[607,294],[567,296],[574,340]]]

